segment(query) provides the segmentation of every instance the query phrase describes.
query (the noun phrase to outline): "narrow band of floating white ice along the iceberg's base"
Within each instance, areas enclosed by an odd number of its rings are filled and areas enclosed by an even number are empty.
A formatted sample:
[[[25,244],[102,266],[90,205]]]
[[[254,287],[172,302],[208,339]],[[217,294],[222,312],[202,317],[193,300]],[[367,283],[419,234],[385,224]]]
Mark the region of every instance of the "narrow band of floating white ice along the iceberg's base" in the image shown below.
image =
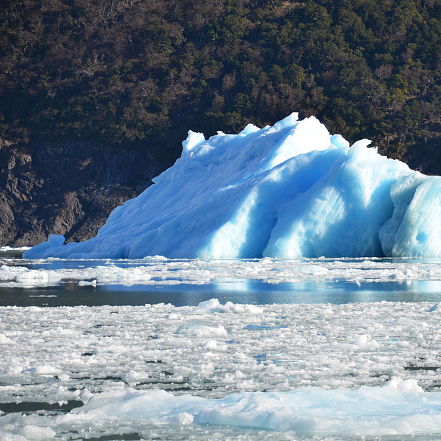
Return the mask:
[[[178,260],[154,256],[140,260],[7,260],[0,287],[45,287],[75,282],[97,285],[204,285],[256,280],[264,283],[357,283],[440,280],[440,260],[424,259],[229,259]]]

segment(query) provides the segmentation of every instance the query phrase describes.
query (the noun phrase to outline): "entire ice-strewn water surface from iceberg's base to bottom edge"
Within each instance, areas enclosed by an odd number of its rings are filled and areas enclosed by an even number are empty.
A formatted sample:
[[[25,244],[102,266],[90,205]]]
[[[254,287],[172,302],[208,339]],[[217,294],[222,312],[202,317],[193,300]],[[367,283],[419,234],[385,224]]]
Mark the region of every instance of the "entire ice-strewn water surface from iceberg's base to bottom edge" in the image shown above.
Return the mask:
[[[440,260],[0,263],[1,440],[441,438]]]

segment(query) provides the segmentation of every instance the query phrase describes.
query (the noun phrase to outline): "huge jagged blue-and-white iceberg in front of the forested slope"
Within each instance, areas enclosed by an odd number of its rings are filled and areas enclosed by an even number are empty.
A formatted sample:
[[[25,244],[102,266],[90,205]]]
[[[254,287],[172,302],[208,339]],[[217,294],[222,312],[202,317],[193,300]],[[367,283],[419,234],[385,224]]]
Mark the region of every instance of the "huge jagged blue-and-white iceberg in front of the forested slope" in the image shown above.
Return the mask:
[[[441,257],[441,177],[349,145],[311,116],[205,139],[116,207],[96,237],[25,258]]]

